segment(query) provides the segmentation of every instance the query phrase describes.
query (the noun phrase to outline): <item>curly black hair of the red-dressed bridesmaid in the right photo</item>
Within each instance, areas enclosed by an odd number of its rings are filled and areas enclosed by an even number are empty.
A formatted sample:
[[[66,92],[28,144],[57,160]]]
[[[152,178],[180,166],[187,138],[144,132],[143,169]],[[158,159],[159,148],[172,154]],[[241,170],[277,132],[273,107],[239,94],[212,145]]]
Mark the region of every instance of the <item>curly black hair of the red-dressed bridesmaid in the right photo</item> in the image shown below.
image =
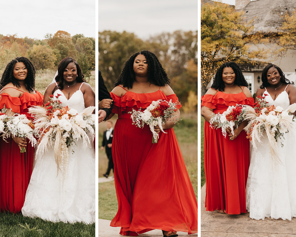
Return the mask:
[[[217,70],[217,73],[215,75],[214,82],[213,82],[211,88],[214,88],[219,91],[224,91],[225,84],[222,80],[222,73],[223,73],[224,68],[232,68],[232,70],[235,74],[234,84],[236,84],[238,86],[249,86],[249,83],[245,79],[239,66],[235,62],[225,62]]]

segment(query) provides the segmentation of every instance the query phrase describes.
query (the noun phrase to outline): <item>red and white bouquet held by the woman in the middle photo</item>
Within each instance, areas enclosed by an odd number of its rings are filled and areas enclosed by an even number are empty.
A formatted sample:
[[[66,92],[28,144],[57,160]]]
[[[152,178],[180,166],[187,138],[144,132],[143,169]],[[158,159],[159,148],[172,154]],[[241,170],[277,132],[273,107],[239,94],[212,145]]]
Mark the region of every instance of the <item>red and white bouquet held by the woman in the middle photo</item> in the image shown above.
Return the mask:
[[[152,143],[158,143],[158,133],[154,131],[154,126],[159,126],[160,130],[166,133],[163,130],[162,124],[164,124],[168,119],[175,118],[175,110],[177,109],[177,105],[180,102],[173,103],[172,100],[169,102],[166,100],[157,100],[152,101],[152,103],[147,107],[144,112],[132,110],[129,112],[131,118],[133,119],[133,124],[137,127],[143,128],[144,124],[147,124],[150,127],[150,131],[153,134]],[[179,119],[176,118],[177,122]]]

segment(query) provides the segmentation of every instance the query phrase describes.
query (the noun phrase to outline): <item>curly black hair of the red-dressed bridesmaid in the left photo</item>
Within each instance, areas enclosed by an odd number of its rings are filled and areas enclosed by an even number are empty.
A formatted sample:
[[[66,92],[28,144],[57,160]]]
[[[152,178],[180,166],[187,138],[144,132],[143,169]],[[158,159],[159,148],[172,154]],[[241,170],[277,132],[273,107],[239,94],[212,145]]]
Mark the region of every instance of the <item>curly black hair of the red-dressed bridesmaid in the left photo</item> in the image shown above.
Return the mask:
[[[27,78],[25,79],[26,89],[29,92],[33,92],[35,90],[35,76],[36,70],[32,62],[26,57],[16,57],[11,60],[4,70],[4,73],[0,80],[0,89],[2,89],[5,85],[12,82],[12,84],[16,87],[21,87],[19,81],[13,77],[13,69],[16,63],[24,63],[27,68]]]

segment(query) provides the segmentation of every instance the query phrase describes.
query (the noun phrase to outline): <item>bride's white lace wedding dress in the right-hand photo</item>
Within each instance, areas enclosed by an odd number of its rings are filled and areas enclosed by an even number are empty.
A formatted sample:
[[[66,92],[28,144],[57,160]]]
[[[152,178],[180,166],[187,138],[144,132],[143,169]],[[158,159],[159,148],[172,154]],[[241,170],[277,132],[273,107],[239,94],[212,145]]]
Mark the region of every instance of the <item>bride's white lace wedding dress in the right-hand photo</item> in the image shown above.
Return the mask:
[[[284,110],[289,107],[286,89],[274,101],[267,91],[264,93],[268,94],[265,97],[268,105],[280,106]],[[271,158],[266,135],[262,145],[251,146],[246,204],[252,219],[291,220],[296,217],[296,130],[291,129],[284,137],[284,147],[277,142],[281,162]]]

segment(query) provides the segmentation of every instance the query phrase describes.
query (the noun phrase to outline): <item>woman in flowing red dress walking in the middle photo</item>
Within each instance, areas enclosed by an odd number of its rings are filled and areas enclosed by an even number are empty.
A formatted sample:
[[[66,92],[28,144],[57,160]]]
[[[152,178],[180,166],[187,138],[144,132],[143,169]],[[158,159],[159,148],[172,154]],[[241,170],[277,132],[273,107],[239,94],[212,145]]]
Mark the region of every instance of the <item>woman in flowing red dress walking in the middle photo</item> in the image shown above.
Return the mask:
[[[152,144],[148,125],[136,127],[128,113],[145,110],[159,99],[177,102],[169,82],[157,57],[143,50],[125,62],[111,92],[112,113],[118,114],[112,143],[118,211],[111,226],[121,227],[122,236],[153,229],[162,230],[164,237],[197,232],[197,201],[173,130],[175,122],[165,122],[166,133],[155,126],[159,142]]]

